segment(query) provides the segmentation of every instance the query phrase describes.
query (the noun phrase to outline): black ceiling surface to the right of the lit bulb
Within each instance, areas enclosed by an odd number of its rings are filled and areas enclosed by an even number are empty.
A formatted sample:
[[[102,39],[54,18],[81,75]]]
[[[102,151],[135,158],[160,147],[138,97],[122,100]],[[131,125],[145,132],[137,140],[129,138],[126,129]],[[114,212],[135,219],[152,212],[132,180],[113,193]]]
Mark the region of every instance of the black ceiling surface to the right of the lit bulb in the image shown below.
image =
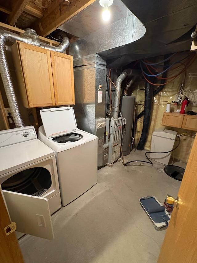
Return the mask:
[[[111,67],[134,60],[190,50],[197,23],[196,0],[122,0],[146,27],[145,35],[107,55]],[[102,53],[101,53],[102,55]]]

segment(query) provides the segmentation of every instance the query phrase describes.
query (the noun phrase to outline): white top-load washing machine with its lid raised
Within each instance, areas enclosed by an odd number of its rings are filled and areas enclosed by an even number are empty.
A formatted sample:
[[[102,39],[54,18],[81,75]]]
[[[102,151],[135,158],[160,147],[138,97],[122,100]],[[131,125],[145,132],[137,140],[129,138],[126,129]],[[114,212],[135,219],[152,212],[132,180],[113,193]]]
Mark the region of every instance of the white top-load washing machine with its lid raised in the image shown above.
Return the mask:
[[[42,109],[38,139],[55,151],[62,205],[97,183],[97,141],[79,130],[72,107]]]

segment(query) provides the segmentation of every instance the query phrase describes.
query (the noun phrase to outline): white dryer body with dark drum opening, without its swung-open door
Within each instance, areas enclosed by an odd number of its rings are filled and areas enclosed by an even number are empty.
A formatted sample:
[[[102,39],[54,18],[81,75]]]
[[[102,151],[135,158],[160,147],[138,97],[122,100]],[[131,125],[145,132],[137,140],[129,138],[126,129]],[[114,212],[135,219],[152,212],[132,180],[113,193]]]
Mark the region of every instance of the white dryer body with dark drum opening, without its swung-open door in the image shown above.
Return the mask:
[[[33,126],[0,131],[0,159],[3,190],[47,198],[50,214],[61,208],[55,153]]]

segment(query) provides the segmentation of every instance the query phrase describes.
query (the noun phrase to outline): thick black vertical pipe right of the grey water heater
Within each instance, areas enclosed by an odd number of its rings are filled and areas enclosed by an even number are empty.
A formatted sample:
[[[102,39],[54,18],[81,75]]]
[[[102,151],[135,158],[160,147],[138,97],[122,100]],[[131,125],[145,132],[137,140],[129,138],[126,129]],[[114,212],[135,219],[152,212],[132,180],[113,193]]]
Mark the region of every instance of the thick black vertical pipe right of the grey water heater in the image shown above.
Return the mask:
[[[149,124],[150,124],[150,119],[151,119],[152,98],[153,98],[153,85],[151,85],[146,80],[143,128],[142,128],[142,134],[141,134],[138,146],[137,146],[137,150],[140,150],[140,151],[144,150],[144,145],[147,140],[148,129],[149,129]]]

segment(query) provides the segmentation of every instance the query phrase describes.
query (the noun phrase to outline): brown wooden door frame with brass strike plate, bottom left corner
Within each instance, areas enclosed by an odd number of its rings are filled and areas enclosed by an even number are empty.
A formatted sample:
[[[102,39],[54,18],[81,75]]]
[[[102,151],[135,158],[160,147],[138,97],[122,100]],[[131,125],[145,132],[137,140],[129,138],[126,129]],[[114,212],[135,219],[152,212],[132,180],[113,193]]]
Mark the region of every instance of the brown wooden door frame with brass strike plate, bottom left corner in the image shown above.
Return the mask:
[[[4,228],[11,223],[0,187],[0,261],[1,263],[23,263],[23,257],[15,233],[6,236]]]

